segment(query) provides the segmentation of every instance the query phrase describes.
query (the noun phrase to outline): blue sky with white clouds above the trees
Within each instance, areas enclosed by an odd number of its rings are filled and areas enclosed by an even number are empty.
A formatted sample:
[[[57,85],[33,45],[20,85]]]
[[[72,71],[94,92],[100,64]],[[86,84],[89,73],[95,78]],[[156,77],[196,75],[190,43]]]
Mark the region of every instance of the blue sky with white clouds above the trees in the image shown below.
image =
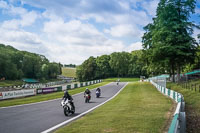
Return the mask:
[[[80,65],[90,56],[142,49],[159,0],[0,0],[0,43]],[[200,24],[200,0],[191,21]],[[200,30],[194,30],[194,37]]]

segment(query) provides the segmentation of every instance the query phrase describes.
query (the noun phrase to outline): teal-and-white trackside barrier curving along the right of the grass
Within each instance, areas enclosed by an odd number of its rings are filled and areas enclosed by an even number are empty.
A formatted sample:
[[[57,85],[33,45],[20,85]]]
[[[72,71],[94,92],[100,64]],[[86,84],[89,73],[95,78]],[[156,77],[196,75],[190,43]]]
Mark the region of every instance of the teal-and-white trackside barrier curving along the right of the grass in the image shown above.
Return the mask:
[[[173,120],[169,127],[168,133],[185,133],[186,132],[186,116],[185,116],[185,102],[183,96],[175,92],[173,90],[162,87],[152,80],[150,80],[151,84],[153,84],[158,91],[163,93],[164,95],[169,96],[173,100],[177,102],[176,111],[173,116]]]

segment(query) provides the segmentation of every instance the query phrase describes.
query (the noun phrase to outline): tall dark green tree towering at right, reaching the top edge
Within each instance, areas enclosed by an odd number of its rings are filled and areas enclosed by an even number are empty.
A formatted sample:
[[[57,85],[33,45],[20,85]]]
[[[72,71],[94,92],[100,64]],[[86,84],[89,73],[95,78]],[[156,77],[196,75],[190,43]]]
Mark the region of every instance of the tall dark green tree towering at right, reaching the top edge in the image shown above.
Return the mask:
[[[189,21],[194,8],[195,0],[161,0],[153,23],[144,27],[142,42],[149,59],[170,67],[172,75],[176,68],[178,80],[181,68],[195,57],[197,43],[191,36],[194,24]]]

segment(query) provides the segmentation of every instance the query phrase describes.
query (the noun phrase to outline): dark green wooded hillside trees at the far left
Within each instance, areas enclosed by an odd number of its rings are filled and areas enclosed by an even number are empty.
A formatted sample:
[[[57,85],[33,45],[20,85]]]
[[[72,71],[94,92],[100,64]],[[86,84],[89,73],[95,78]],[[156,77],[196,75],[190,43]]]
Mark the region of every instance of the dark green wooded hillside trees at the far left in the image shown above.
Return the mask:
[[[60,63],[51,63],[43,55],[0,44],[0,79],[55,79],[58,74],[61,74]]]

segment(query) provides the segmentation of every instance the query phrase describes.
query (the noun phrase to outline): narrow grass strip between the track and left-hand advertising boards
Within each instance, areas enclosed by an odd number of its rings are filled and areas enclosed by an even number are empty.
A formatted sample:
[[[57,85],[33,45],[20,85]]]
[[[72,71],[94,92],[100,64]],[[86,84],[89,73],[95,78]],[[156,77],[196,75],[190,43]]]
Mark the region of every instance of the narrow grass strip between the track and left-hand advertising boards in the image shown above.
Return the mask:
[[[97,88],[99,86],[106,85],[108,83],[109,82],[102,82],[102,83],[98,83],[98,84],[94,84],[94,85],[90,85],[90,86],[72,89],[72,90],[69,90],[69,93],[71,95],[74,95],[74,94],[83,92],[86,87],[89,89],[93,89],[93,88]],[[47,101],[47,100],[61,98],[63,95],[64,95],[63,92],[55,92],[55,93],[50,93],[50,94],[45,94],[45,95],[40,94],[40,95],[25,97],[25,98],[3,100],[3,101],[0,101],[0,107],[8,107],[8,106],[14,106],[14,105]]]

